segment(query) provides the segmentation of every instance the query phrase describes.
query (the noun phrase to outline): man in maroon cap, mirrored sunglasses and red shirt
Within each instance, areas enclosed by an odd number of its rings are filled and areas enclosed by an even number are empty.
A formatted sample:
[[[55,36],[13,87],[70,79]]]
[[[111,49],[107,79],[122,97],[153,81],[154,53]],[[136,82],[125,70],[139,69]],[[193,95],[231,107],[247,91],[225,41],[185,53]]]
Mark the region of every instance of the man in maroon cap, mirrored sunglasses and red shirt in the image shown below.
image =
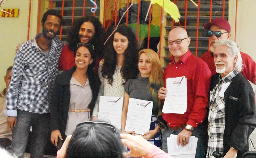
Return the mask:
[[[215,42],[221,41],[224,39],[229,40],[230,34],[230,25],[228,21],[224,18],[217,17],[212,22],[208,22],[204,25],[209,36],[210,46]],[[256,84],[256,64],[254,60],[246,53],[241,52],[241,57],[243,60],[243,70],[241,71],[242,75],[252,83]],[[213,62],[213,53],[211,51],[204,52],[201,56],[201,59],[207,63],[209,66],[212,75],[216,74],[216,68]]]

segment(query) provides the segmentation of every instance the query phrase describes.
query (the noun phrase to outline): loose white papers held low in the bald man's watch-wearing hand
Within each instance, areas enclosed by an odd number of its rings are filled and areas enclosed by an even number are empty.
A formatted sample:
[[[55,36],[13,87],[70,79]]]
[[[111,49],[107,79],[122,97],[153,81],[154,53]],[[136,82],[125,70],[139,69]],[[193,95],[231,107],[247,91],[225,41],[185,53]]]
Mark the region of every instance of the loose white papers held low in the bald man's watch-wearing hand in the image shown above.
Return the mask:
[[[174,155],[183,155],[186,154],[186,158],[195,158],[196,149],[197,149],[197,140],[195,136],[191,136],[188,140],[188,144],[186,146],[178,146],[177,145],[177,135],[170,135],[169,138],[167,138],[167,150],[168,154],[171,156]],[[190,155],[188,157],[188,155]]]

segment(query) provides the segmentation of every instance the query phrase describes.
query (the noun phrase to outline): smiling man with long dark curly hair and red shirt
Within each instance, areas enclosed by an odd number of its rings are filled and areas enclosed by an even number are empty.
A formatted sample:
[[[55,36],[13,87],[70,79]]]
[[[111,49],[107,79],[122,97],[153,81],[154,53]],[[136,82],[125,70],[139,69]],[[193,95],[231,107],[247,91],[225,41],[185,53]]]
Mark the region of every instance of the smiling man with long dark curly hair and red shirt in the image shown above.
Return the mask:
[[[75,66],[75,56],[78,43],[87,43],[94,46],[97,52],[95,69],[97,71],[105,33],[98,18],[85,16],[77,19],[68,32],[68,44],[64,45],[59,58],[59,70],[68,70]]]

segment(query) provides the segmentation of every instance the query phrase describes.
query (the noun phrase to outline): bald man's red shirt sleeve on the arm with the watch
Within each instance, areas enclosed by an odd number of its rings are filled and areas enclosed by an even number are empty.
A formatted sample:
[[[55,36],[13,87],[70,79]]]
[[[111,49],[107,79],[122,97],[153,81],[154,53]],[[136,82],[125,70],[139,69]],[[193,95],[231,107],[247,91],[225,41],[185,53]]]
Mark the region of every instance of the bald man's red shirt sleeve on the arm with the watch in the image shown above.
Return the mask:
[[[201,60],[201,59],[200,59]],[[211,81],[211,71],[207,64],[201,60],[197,64],[196,72],[192,77],[195,102],[189,114],[187,124],[197,127],[202,123],[209,107],[208,95]]]

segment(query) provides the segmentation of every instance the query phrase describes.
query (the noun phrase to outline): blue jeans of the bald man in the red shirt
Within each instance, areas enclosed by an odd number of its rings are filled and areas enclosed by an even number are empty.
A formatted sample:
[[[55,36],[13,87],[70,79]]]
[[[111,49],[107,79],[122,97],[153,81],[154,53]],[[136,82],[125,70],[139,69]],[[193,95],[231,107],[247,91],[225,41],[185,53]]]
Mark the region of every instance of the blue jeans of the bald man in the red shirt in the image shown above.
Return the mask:
[[[200,126],[200,125],[199,125]],[[194,128],[192,135],[198,138],[197,141],[197,150],[196,150],[196,158],[205,158],[204,153],[205,153],[205,147],[203,144],[203,139],[201,135],[201,130],[200,127]],[[167,137],[170,137],[171,134],[173,135],[178,135],[182,130],[171,130],[169,127],[162,133],[162,150],[167,153]]]

